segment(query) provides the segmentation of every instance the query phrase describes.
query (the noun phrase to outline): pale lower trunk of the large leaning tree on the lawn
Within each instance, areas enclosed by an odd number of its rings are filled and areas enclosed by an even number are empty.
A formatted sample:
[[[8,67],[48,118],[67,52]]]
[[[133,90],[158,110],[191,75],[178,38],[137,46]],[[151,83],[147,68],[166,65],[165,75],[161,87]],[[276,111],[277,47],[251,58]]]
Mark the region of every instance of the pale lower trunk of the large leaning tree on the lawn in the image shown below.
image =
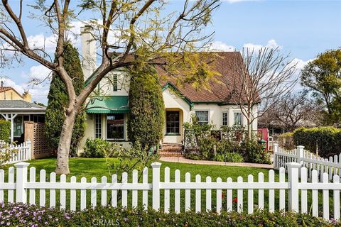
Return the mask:
[[[69,174],[69,153],[72,138],[73,126],[75,125],[75,118],[77,116],[77,111],[73,109],[69,114],[66,114],[63,123],[63,128],[60,133],[60,140],[57,152],[57,168],[55,173],[58,175]]]

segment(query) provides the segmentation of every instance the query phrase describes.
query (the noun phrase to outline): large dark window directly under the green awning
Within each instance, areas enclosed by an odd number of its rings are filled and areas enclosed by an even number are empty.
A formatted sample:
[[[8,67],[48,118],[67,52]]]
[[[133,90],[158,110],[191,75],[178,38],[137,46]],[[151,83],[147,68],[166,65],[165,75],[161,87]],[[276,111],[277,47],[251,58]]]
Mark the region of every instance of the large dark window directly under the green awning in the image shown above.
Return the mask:
[[[124,139],[124,114],[107,115],[107,139]]]

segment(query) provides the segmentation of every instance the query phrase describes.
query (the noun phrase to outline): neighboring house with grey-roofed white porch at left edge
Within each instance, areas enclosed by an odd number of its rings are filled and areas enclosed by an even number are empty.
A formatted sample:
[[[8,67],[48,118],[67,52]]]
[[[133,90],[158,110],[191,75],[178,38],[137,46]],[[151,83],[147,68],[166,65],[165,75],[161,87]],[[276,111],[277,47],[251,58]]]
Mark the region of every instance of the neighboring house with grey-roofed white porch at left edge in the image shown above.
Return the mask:
[[[22,143],[25,138],[24,121],[45,122],[45,107],[31,103],[31,94],[23,95],[13,87],[0,87],[0,118],[11,121],[11,142]]]

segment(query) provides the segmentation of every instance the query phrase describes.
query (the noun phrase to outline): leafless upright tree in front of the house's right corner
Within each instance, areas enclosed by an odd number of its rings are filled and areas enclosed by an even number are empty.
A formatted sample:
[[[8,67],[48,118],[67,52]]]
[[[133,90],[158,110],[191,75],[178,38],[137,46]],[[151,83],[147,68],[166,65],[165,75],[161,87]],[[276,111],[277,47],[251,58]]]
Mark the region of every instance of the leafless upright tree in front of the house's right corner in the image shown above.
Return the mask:
[[[278,48],[242,50],[242,59],[234,62],[239,77],[233,77],[232,101],[247,118],[247,134],[251,138],[251,123],[266,113],[281,95],[291,92],[297,82],[296,63]],[[254,108],[261,104],[261,111]]]

